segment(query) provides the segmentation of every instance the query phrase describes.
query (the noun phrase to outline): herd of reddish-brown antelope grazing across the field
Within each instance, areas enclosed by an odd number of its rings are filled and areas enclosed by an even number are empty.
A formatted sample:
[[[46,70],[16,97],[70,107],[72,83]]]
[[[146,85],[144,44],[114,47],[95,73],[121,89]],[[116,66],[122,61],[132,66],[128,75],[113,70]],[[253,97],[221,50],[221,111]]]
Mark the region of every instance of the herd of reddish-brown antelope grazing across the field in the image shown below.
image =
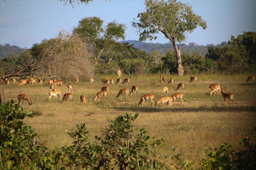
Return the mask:
[[[102,87],[101,90],[99,92],[97,92],[96,96],[93,99],[93,102],[95,102],[97,99],[100,99],[101,97],[107,97],[108,93],[109,93],[109,86],[108,84],[111,85],[115,85],[115,84],[127,84],[130,82],[129,78],[125,78],[124,81],[122,81],[121,78],[121,71],[117,70],[116,74],[118,75],[118,79],[116,80],[116,83],[113,79],[111,79],[110,81],[106,78],[102,78],[102,83],[105,84],[106,86]],[[247,78],[247,82],[248,81],[254,81],[255,77],[254,76],[248,76]],[[197,80],[196,76],[191,76],[190,77],[190,81],[189,83],[194,83]],[[12,78],[12,82],[13,84],[17,84],[19,85],[34,85],[36,83],[35,78],[30,78],[29,80],[27,79],[20,79],[19,80],[20,83],[17,82],[17,80],[15,78]],[[76,83],[79,81],[79,78],[76,78]],[[168,85],[173,83],[173,78],[170,78],[170,81],[168,81]],[[159,82],[161,83],[167,83],[166,78],[164,76],[160,76],[160,80]],[[4,79],[3,80],[4,84],[10,84],[10,80],[8,79]],[[94,83],[94,79],[90,78],[89,83],[93,84]],[[43,84],[43,80],[42,79],[38,79],[38,84],[42,85]],[[61,87],[63,87],[63,82],[61,80],[49,80],[48,81],[49,87],[51,89],[51,91],[49,92],[49,101],[51,101],[52,97],[59,97],[61,99],[61,90],[60,89],[56,89],[57,85],[60,85]],[[73,101],[73,93],[76,89],[74,89],[72,87],[72,85],[70,83],[68,83],[67,85],[68,87],[68,93],[64,94],[62,97],[62,103],[64,101]],[[232,93],[226,93],[225,92],[225,88],[227,87],[227,85],[225,87],[221,87],[221,85],[219,83],[212,83],[211,85],[209,85],[209,87],[207,88],[207,92],[210,94],[210,96],[212,96],[212,94],[222,94],[223,99],[224,99],[224,103],[226,103],[226,101],[229,99],[230,101],[234,102],[233,100],[233,94]],[[173,88],[174,89],[174,88]],[[169,89],[168,87],[163,87],[163,89],[161,90],[161,97],[159,100],[156,101],[156,103],[154,103],[154,94],[145,94],[143,96],[141,96],[140,102],[138,103],[139,106],[143,106],[144,104],[147,104],[147,100],[150,101],[150,103],[152,104],[152,106],[154,105],[158,105],[158,104],[168,104],[168,105],[172,105],[172,101],[175,103],[176,99],[180,99],[180,101],[182,102],[182,104],[184,104],[184,100],[182,99],[182,97],[184,96],[184,94],[178,92],[179,90],[184,90],[184,83],[179,83],[177,88],[174,89],[175,91],[177,91],[177,93],[172,94],[172,96],[168,97],[168,92]],[[131,88],[131,91],[127,88],[124,89],[120,89],[116,98],[120,97],[120,96],[125,96],[126,98],[129,95],[132,95],[133,92],[136,92],[136,94],[138,94],[138,86],[134,85]],[[21,101],[26,101],[29,105],[33,104],[31,102],[31,99],[29,99],[27,94],[19,94],[17,96],[18,98],[18,104],[20,104]],[[80,96],[80,101],[83,104],[86,104],[86,97],[84,95]]]

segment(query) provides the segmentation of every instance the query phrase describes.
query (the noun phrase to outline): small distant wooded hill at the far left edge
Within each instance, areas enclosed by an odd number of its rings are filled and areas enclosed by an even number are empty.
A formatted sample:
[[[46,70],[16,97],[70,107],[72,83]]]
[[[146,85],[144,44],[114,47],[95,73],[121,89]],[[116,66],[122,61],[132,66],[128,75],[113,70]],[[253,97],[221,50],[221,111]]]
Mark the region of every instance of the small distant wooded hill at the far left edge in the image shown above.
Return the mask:
[[[20,53],[28,50],[27,48],[20,48],[19,46],[4,44],[0,45],[0,59],[5,57],[19,56]]]

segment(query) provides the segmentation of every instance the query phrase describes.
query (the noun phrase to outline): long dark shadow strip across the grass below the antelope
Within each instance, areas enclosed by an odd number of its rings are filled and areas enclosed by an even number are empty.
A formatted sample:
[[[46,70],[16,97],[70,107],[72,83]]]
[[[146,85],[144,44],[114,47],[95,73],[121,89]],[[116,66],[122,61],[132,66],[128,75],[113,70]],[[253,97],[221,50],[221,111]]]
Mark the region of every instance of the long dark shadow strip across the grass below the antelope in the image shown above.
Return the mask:
[[[138,112],[145,112],[145,113],[152,113],[152,112],[241,112],[241,111],[250,111],[250,112],[256,112],[256,106],[212,106],[212,107],[204,107],[200,106],[198,108],[195,107],[173,107],[170,106],[170,108],[167,107],[152,107],[152,106],[145,106],[145,107],[114,107],[113,109],[115,110],[120,110],[120,111],[138,111]]]

